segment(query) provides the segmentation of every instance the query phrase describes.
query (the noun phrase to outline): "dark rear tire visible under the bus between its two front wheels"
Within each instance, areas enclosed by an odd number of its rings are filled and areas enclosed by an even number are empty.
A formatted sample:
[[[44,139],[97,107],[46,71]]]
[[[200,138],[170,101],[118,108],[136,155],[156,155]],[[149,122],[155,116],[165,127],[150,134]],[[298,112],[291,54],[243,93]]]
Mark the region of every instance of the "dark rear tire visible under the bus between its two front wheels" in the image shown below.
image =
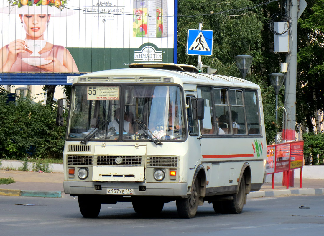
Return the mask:
[[[161,213],[164,202],[159,200],[132,199],[134,211],[141,215],[155,216]]]

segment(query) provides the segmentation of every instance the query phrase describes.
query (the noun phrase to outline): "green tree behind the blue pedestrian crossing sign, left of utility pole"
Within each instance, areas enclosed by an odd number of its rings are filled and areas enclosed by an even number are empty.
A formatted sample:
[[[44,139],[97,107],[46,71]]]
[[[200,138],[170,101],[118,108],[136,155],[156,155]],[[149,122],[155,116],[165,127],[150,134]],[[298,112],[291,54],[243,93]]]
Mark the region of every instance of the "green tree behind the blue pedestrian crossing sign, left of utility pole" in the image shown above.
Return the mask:
[[[273,53],[273,35],[269,36],[268,27],[269,15],[278,9],[278,3],[253,7],[258,3],[261,1],[179,0],[178,63],[197,65],[197,56],[186,54],[186,41],[188,29],[197,29],[199,22],[203,22],[203,29],[214,30],[213,55],[202,56],[202,61],[204,65],[217,68],[217,74],[241,77],[235,65],[235,56],[253,56],[252,73],[246,79],[261,88],[267,142],[271,143],[277,129],[281,130],[275,123],[275,94],[269,80],[269,74],[280,69],[281,55]],[[252,9],[245,9],[247,6]],[[214,14],[210,14],[211,11]],[[279,98],[279,105],[282,105],[283,98]]]

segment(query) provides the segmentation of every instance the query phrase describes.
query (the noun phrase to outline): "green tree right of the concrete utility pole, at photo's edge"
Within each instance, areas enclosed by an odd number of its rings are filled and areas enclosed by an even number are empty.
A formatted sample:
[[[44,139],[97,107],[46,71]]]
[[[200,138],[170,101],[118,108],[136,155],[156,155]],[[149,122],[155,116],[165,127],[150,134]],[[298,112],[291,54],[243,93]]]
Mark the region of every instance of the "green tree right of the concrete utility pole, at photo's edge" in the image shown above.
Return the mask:
[[[298,20],[296,120],[310,132],[324,108],[324,0],[307,0]],[[320,121],[319,121],[320,122]],[[317,133],[322,132],[317,122]]]

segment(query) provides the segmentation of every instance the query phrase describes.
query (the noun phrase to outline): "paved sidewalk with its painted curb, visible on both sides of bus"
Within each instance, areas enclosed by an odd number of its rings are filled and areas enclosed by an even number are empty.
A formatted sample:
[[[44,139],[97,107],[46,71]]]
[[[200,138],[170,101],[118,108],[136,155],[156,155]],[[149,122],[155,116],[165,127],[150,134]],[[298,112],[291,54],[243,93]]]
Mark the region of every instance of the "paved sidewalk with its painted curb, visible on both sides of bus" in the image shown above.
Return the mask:
[[[0,178],[12,177],[16,183],[1,184],[0,195],[68,197],[63,191],[63,173],[38,173],[27,171],[0,170]],[[299,179],[295,179],[295,187],[286,188],[281,183],[265,183],[258,192],[251,192],[248,198],[272,197],[281,195],[324,194],[323,179],[303,179],[303,188],[299,188]]]

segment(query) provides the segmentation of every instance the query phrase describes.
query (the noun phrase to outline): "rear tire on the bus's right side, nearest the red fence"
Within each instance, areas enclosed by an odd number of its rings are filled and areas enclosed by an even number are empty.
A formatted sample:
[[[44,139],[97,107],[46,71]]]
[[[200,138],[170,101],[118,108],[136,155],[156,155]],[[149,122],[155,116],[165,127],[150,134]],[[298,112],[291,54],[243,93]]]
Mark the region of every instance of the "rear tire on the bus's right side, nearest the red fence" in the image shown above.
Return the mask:
[[[239,214],[243,210],[243,206],[246,203],[246,185],[245,178],[242,176],[238,192],[233,194],[234,199],[228,202],[228,213]]]

